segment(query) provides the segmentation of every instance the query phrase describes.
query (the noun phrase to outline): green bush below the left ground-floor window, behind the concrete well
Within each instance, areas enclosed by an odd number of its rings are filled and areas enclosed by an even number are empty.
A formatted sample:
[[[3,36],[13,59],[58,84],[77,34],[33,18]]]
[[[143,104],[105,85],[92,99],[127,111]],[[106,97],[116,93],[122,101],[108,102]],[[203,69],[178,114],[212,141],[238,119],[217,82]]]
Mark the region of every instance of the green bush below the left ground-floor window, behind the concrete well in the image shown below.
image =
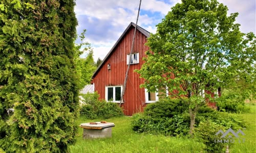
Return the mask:
[[[80,114],[88,119],[111,118],[123,115],[122,109],[116,103],[98,100],[99,95],[95,93],[83,94],[84,105],[81,106]]]

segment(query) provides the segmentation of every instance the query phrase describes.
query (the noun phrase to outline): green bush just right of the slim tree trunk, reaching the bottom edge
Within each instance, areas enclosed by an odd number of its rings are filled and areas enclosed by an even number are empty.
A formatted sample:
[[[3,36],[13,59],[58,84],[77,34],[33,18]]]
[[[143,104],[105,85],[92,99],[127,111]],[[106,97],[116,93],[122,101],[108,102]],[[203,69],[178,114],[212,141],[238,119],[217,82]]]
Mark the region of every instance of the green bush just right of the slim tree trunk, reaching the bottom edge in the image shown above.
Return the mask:
[[[195,137],[205,144],[207,152],[223,152],[225,146],[229,148],[232,143],[216,143],[220,136],[215,136],[219,130],[226,131],[231,128],[234,131],[246,127],[242,118],[237,114],[219,112],[208,107],[201,107],[196,117]]]

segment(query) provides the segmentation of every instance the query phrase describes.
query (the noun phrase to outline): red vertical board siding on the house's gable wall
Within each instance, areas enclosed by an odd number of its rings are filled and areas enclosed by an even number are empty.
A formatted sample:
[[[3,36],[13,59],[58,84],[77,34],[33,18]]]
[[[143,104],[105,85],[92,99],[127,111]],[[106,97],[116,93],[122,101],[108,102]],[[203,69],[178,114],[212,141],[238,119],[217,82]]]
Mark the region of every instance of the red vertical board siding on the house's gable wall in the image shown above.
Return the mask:
[[[102,64],[101,69],[97,72],[93,79],[95,91],[98,91],[100,99],[105,98],[105,86],[123,85],[125,72],[127,69],[126,56],[131,52],[132,39],[134,35],[134,27],[124,35],[123,39],[114,48],[112,54]],[[145,90],[140,88],[143,79],[139,78],[139,74],[134,72],[142,66],[142,57],[145,56],[148,47],[145,46],[146,36],[136,31],[134,42],[134,53],[139,53],[139,64],[130,66],[129,77],[124,93],[124,104],[122,105],[125,115],[133,115],[134,113],[143,111],[145,106]],[[107,65],[111,64],[111,71]]]

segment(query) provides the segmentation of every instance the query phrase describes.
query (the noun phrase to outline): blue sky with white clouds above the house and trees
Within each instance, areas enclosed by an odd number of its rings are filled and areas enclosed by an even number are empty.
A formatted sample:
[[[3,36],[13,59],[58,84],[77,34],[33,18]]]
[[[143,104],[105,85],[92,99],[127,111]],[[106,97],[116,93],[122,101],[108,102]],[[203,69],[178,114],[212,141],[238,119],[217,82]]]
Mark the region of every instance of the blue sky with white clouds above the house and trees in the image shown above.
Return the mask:
[[[218,1],[228,7],[228,14],[239,13],[236,22],[241,24],[241,32],[256,33],[256,0]],[[136,23],[139,3],[139,0],[76,0],[77,34],[86,30],[84,40],[91,44],[95,62],[104,59],[131,22]],[[181,0],[142,0],[138,25],[155,33],[156,25],[177,3]]]

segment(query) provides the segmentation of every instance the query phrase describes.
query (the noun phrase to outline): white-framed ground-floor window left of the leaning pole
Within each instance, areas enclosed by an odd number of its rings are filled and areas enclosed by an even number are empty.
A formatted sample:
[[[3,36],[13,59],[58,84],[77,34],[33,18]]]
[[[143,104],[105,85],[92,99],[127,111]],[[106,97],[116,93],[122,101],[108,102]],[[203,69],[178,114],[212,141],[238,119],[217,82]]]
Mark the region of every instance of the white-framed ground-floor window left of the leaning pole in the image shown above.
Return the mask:
[[[122,86],[105,86],[105,100],[120,102]]]

